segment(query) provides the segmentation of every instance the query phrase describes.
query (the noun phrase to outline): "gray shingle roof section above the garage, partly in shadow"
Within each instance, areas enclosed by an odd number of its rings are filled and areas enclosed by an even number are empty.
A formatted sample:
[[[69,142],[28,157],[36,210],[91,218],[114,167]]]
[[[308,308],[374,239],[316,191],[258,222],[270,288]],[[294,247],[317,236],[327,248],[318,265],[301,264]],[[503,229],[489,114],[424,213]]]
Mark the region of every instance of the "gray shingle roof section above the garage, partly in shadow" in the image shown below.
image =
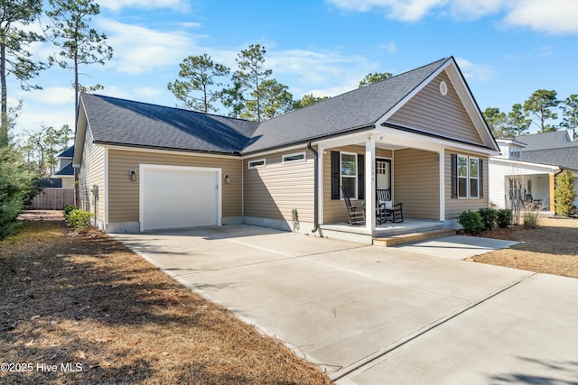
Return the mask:
[[[95,142],[213,153],[240,152],[257,123],[82,94]]]

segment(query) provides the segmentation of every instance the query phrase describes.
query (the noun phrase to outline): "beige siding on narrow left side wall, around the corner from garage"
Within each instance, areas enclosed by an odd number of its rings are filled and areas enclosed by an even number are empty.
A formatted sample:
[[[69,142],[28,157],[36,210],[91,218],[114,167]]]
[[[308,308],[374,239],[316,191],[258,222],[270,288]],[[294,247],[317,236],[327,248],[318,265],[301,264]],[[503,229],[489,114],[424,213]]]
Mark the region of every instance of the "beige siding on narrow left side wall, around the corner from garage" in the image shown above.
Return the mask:
[[[92,132],[87,126],[82,153],[82,165],[79,170],[79,207],[93,213],[99,228],[105,224],[105,152],[102,146],[93,143]],[[91,192],[98,186],[98,200]]]

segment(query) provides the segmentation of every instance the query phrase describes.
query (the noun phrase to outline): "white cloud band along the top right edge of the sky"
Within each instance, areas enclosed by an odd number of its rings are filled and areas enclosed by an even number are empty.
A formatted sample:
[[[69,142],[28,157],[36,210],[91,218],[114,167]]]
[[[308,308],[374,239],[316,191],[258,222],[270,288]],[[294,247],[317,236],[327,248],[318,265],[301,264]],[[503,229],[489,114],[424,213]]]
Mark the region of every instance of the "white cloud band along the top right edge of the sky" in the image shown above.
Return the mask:
[[[578,32],[576,0],[328,0],[344,11],[384,11],[388,18],[415,22],[428,14],[478,19],[501,14],[508,25],[550,33]]]

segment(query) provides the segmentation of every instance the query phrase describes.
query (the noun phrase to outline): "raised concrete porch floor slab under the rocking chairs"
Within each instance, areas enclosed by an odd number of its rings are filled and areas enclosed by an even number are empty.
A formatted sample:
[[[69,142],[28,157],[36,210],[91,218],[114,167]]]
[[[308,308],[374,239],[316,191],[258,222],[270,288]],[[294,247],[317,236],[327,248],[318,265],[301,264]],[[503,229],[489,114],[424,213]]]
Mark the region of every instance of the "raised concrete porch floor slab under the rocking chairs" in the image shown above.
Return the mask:
[[[320,225],[320,234],[326,238],[340,239],[356,243],[372,244],[374,238],[388,238],[403,234],[421,234],[443,230],[446,223],[427,219],[405,218],[404,222],[376,225],[376,229],[369,232],[363,225],[350,225],[345,222]]]

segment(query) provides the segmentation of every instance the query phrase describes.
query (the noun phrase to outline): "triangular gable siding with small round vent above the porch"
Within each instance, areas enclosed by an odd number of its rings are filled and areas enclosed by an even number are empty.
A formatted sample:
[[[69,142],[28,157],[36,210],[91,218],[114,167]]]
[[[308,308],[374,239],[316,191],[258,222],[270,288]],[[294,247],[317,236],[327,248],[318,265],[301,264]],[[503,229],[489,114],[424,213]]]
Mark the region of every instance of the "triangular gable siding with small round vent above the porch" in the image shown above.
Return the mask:
[[[442,96],[439,91],[442,80],[448,87],[446,96]],[[464,142],[483,144],[480,134],[472,124],[470,116],[461,104],[460,97],[445,71],[401,107],[387,120],[387,123],[399,124]]]

